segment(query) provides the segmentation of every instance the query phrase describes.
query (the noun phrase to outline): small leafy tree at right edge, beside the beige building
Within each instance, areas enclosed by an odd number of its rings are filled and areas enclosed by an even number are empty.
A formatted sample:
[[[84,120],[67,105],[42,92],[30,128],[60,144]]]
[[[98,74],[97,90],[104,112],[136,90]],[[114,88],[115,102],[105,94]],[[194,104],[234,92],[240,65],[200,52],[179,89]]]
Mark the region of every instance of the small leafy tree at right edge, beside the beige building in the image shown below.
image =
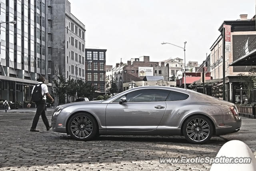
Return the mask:
[[[250,102],[251,90],[256,87],[256,74],[249,72],[249,74],[237,74],[242,80],[241,85],[243,89],[247,89],[248,102]]]

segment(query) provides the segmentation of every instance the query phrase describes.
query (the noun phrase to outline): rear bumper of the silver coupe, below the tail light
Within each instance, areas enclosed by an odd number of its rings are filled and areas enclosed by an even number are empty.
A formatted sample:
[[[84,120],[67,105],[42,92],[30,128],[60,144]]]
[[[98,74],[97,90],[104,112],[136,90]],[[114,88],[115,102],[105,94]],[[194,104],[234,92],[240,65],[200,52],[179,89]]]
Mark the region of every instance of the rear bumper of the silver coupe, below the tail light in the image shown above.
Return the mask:
[[[215,135],[224,135],[227,133],[234,133],[240,130],[242,125],[241,117],[236,117],[233,123],[229,123],[228,127],[216,127]]]

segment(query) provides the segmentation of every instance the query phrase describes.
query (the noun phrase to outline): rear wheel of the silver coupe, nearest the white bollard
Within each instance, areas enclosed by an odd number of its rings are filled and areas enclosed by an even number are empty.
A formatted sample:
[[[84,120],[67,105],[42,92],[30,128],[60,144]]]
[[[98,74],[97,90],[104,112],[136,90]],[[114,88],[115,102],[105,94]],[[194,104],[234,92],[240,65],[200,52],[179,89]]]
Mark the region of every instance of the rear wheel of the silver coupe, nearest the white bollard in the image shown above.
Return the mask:
[[[182,131],[186,140],[194,144],[203,144],[213,134],[213,125],[210,119],[203,115],[194,115],[186,119]]]

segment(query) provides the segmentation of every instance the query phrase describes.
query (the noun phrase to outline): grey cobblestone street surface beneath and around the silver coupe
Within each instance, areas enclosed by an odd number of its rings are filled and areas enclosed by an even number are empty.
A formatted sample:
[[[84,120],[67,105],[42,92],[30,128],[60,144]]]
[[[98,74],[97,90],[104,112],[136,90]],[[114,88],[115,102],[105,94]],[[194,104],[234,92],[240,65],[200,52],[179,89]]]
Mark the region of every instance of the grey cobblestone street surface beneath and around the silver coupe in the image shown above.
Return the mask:
[[[159,157],[215,157],[230,139],[244,141],[256,155],[256,119],[242,117],[238,133],[212,137],[204,145],[189,144],[180,136],[100,136],[75,141],[69,135],[30,132],[34,111],[0,113],[0,170],[208,170],[207,164],[160,164]],[[52,111],[48,111],[50,121]]]

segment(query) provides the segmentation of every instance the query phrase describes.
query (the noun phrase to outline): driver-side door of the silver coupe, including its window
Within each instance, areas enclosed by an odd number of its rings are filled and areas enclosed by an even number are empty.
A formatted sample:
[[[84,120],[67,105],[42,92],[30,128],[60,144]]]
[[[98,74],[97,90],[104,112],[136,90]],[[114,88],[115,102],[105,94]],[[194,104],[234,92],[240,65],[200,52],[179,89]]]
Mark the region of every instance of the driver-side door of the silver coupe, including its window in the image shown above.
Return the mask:
[[[127,93],[127,102],[118,97],[106,107],[107,131],[150,131],[156,129],[166,110],[165,89],[139,89]]]

